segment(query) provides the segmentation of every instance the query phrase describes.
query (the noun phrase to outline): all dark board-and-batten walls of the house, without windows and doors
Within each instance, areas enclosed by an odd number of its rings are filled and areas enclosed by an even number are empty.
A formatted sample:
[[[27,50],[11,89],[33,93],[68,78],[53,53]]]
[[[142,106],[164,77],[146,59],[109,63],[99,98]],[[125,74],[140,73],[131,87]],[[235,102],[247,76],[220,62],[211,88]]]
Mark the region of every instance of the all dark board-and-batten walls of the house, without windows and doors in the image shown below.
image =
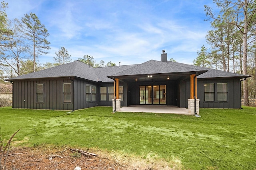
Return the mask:
[[[72,78],[71,78],[72,79]],[[59,109],[76,110],[94,106],[112,106],[112,99],[107,101],[100,100],[100,87],[114,86],[114,82],[97,83],[84,79],[76,78],[71,80],[67,78],[38,79],[28,81],[13,82],[13,108],[30,109]],[[72,85],[71,103],[63,103],[63,83],[70,82]],[[228,101],[227,102],[205,102],[204,84],[205,83],[228,83]],[[36,102],[36,84],[44,84],[43,102]],[[96,101],[86,102],[86,85],[96,86]],[[166,85],[166,105],[188,108],[188,99],[190,98],[190,80],[164,81],[164,82],[120,82],[124,86],[124,101],[122,106],[139,105],[139,87],[143,85]],[[215,85],[217,86],[217,85]],[[241,108],[241,82],[239,78],[222,79],[199,79],[198,78],[198,99],[200,99],[200,108]],[[217,98],[217,91],[215,92]]]

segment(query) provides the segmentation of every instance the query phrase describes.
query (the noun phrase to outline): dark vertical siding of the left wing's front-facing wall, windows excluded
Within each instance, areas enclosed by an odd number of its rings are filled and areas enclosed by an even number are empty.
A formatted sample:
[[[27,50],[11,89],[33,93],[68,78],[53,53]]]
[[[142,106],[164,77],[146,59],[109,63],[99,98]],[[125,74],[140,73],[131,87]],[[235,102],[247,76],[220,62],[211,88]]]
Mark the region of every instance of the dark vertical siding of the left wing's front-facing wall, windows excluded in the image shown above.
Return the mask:
[[[13,82],[13,108],[72,110],[71,103],[63,103],[63,83],[69,79],[28,80]],[[44,84],[43,102],[36,102],[36,84]],[[72,85],[71,85],[72,86]]]

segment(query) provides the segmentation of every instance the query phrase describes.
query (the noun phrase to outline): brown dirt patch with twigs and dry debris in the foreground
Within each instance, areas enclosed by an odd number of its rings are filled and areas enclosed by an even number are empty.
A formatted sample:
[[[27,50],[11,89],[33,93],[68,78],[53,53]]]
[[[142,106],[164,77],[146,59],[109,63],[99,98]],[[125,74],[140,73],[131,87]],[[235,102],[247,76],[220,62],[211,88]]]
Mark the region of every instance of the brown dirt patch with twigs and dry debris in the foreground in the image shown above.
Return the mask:
[[[68,147],[21,147],[13,148],[1,160],[5,170],[178,170],[167,162],[127,158],[100,150],[85,150],[98,156],[85,156]]]

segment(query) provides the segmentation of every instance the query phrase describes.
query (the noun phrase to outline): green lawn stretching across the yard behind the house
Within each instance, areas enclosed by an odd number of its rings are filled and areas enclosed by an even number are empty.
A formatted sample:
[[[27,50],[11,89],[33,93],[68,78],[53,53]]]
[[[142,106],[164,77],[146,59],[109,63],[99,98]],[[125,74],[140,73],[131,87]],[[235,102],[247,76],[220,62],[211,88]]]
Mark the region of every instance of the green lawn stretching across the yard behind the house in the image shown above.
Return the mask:
[[[174,158],[185,169],[256,169],[256,108],[200,109],[198,118],[111,113],[112,107],[66,111],[0,108],[0,134],[13,143],[113,150],[147,159]],[[1,140],[0,140],[1,141]],[[17,144],[16,144],[17,145]]]

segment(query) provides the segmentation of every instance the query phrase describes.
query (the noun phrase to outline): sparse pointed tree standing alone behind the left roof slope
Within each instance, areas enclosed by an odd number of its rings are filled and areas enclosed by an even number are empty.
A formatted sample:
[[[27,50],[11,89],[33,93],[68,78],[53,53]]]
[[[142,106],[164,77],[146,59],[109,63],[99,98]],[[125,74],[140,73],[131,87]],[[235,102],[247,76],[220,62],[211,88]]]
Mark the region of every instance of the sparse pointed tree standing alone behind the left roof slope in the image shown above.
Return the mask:
[[[56,57],[53,57],[53,61],[56,65],[70,63],[72,61],[71,55],[68,54],[68,50],[64,47],[60,47],[58,53],[55,53]]]

